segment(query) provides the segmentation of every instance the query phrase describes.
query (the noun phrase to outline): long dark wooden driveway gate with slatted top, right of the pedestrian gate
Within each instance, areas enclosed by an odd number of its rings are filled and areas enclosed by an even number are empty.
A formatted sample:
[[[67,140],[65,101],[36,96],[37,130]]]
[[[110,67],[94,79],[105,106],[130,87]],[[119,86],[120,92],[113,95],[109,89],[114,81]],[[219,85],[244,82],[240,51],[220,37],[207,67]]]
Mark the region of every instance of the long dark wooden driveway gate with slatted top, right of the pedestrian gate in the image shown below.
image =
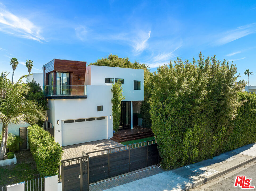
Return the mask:
[[[155,140],[82,154],[89,157],[89,183],[159,163]]]

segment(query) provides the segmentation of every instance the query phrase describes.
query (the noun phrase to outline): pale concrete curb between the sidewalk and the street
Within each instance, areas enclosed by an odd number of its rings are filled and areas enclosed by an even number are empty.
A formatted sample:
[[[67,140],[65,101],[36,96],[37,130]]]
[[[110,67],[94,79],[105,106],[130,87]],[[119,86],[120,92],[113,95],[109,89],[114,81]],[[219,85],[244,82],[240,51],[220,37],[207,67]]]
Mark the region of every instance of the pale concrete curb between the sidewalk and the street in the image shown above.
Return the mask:
[[[213,175],[208,176],[207,178],[202,178],[202,179],[200,179],[200,180],[197,180],[196,182],[192,183],[192,185],[186,186],[186,187],[183,188],[182,190],[188,190],[188,189],[194,188],[194,187],[196,187],[196,186],[199,186],[199,185],[201,185],[201,184],[204,184],[204,183],[206,183],[206,182],[208,182],[208,181],[210,181],[210,180],[213,180],[213,179],[215,179],[215,178],[217,178],[217,177],[219,177],[219,176],[222,176],[222,175],[224,175],[224,174],[226,174],[226,173],[228,173],[228,172],[230,172],[230,171],[233,171],[233,170],[235,170],[236,168],[239,168],[239,167],[241,167],[241,166],[243,166],[243,165],[245,165],[245,164],[248,164],[248,163],[250,163],[250,162],[252,162],[252,161],[254,161],[254,160],[256,160],[256,156],[251,157],[251,158],[249,158],[249,159],[246,159],[246,160],[244,160],[244,161],[242,161],[242,162],[240,162],[240,163],[238,163],[238,164],[235,164],[235,165],[233,165],[233,166],[231,166],[231,167],[229,167],[229,168],[226,168],[226,169],[224,169],[224,170],[221,170],[221,171],[219,171],[219,172],[216,173],[216,174],[213,174]]]

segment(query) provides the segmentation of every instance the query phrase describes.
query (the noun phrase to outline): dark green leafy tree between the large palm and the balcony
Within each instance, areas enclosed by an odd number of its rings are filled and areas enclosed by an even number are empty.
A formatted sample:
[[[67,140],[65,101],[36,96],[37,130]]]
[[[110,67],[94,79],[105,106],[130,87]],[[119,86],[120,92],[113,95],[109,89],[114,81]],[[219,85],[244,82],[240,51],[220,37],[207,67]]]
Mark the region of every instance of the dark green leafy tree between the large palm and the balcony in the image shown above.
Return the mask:
[[[36,83],[35,79],[32,79],[31,82],[27,82],[27,85],[29,85],[30,90],[29,92],[25,95],[27,100],[34,100],[37,105],[42,106],[46,110],[48,110],[48,102],[47,99],[45,98],[45,95],[42,91],[42,88],[39,83]],[[38,121],[37,124],[42,127],[43,121]]]

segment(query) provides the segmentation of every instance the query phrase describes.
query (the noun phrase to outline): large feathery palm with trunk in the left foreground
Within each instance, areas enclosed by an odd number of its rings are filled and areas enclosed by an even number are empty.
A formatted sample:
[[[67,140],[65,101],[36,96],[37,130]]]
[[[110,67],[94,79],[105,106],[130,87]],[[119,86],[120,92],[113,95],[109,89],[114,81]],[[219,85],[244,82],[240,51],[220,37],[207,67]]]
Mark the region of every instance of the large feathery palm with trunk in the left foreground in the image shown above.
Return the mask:
[[[27,100],[26,95],[30,87],[23,83],[22,76],[16,83],[7,79],[8,73],[0,76],[0,123],[2,123],[2,140],[0,147],[0,160],[3,160],[8,138],[8,125],[30,123],[46,120],[46,110],[43,106],[35,105],[34,100]]]

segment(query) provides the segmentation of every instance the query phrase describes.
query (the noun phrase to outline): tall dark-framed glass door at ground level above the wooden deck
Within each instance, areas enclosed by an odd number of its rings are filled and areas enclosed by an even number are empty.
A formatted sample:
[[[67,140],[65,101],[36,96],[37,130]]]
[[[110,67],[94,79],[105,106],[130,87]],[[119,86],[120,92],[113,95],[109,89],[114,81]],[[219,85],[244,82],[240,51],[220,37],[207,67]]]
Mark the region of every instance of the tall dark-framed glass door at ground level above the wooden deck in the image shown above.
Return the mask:
[[[131,102],[121,102],[121,117],[119,130],[131,129]]]

